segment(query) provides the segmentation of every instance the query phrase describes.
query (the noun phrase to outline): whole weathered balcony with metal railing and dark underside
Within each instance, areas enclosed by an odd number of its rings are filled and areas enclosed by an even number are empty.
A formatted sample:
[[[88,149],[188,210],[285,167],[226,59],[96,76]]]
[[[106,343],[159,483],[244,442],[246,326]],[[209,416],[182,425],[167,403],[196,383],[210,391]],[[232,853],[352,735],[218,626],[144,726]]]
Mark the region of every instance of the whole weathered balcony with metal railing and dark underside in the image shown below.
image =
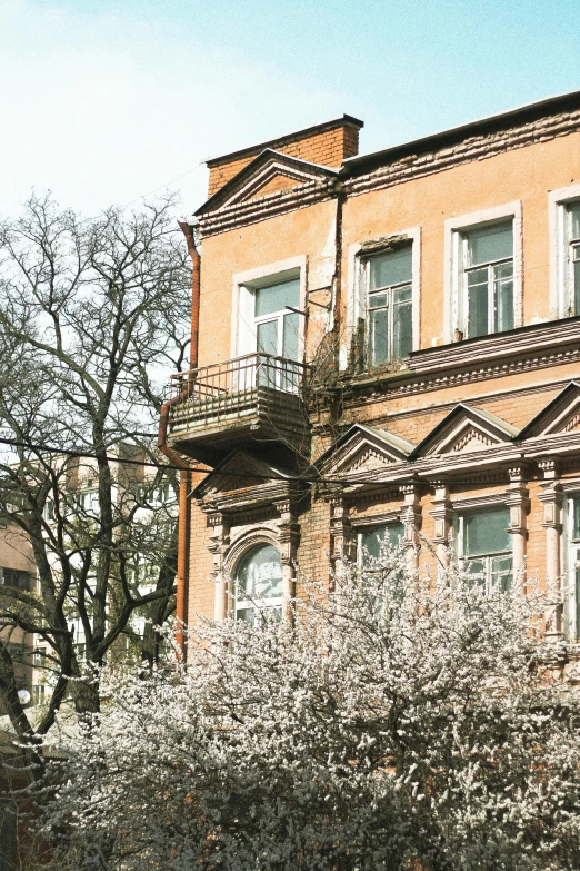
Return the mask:
[[[303,451],[308,370],[296,360],[247,354],[173,375],[170,444],[211,465],[234,448],[256,449],[260,443],[274,453]]]

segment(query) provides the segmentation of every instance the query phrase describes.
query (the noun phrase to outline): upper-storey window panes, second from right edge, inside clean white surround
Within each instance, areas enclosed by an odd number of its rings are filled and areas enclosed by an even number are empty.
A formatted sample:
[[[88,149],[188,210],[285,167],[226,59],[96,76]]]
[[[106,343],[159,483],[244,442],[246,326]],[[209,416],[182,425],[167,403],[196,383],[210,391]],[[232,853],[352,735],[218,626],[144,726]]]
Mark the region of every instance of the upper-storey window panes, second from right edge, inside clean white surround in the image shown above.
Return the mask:
[[[513,221],[462,236],[464,337],[513,329]]]

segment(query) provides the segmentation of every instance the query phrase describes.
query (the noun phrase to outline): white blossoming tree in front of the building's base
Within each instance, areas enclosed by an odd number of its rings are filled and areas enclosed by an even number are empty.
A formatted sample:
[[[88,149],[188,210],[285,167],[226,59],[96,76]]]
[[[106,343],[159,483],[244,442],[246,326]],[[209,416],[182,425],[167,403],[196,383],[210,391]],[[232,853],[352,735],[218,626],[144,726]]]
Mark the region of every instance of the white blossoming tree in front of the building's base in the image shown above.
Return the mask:
[[[293,626],[200,623],[187,670],[62,723],[44,824],[74,867],[579,868],[580,709],[546,602],[402,565],[304,583]]]

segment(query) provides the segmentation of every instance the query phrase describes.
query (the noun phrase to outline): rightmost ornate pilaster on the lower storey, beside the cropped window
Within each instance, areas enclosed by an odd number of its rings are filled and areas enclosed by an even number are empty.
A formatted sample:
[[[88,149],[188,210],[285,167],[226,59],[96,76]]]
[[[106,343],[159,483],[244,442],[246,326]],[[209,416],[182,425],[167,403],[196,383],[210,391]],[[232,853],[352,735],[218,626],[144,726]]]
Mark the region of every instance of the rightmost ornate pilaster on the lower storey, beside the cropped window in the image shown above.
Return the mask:
[[[543,472],[542,493],[543,528],[546,529],[546,575],[548,592],[553,604],[546,613],[546,635],[554,640],[563,634],[561,541],[562,541],[562,485],[558,479],[558,464],[554,459],[541,459],[538,466]]]

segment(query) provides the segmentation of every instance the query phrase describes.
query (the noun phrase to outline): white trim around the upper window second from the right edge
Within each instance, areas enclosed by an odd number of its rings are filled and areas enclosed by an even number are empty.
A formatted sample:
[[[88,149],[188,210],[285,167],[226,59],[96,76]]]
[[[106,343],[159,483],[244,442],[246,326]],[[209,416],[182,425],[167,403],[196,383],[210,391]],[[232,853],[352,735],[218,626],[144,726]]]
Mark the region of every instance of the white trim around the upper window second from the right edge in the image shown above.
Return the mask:
[[[443,340],[456,342],[456,330],[462,326],[460,297],[462,284],[462,258],[460,241],[463,232],[479,229],[486,225],[500,224],[502,219],[513,219],[513,327],[523,325],[522,297],[522,204],[521,200],[493,206],[490,209],[472,211],[448,218],[444,225],[444,298],[443,298]],[[501,335],[494,333],[491,335]]]

